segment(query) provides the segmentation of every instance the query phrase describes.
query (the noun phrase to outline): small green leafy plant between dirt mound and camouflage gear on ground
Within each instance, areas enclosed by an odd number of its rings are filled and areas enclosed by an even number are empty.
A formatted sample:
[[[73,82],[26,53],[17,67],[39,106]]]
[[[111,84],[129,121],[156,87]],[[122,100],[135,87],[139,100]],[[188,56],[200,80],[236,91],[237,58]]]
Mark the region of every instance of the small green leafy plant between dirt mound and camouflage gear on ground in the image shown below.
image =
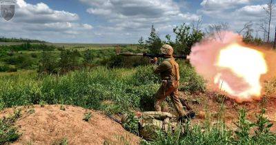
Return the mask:
[[[122,126],[126,129],[126,131],[139,135],[138,124],[139,119],[135,116],[135,113],[128,113]]]

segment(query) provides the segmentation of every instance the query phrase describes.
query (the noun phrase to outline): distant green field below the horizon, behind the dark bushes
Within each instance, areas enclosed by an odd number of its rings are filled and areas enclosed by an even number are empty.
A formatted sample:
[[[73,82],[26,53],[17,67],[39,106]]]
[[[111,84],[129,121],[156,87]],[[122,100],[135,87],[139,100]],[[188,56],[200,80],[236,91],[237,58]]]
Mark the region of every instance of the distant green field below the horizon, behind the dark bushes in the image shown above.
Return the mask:
[[[46,44],[46,45],[44,45]],[[14,72],[17,70],[37,70],[41,64],[43,50],[52,54],[52,60],[58,62],[61,50],[77,50],[78,65],[81,66],[89,51],[92,61],[90,65],[99,66],[110,63],[108,59],[116,55],[115,48],[119,46],[121,52],[141,52],[133,44],[100,44],[100,43],[18,43],[0,42],[0,72]],[[144,51],[144,50],[143,50]],[[59,65],[57,63],[57,65]]]

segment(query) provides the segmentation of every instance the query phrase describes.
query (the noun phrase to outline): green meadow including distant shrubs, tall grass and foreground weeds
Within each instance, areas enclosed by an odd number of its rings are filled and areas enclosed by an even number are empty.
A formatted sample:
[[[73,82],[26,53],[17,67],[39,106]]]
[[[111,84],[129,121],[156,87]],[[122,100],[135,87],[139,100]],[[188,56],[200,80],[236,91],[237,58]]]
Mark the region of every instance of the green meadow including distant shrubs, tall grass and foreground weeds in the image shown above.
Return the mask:
[[[106,115],[153,110],[153,96],[161,80],[153,74],[152,64],[148,58],[117,56],[115,46],[65,43],[47,44],[48,49],[39,43],[0,46],[0,110],[33,104],[81,106]],[[145,51],[137,45],[120,47],[122,52]],[[181,93],[195,96],[206,93],[206,81],[193,66],[188,61],[177,61],[181,69]],[[266,86],[268,92],[275,92],[275,82]],[[219,103],[224,111],[222,98]],[[180,128],[175,133],[157,131],[156,139],[142,140],[141,144],[276,144],[276,135],[270,132],[273,124],[264,111],[256,116],[255,122],[250,122],[246,111],[240,110],[236,128],[226,126],[220,117],[215,121],[206,117],[201,124],[192,124],[192,120],[185,123],[184,132]],[[19,116],[19,112],[14,112],[13,116],[0,119],[0,144],[20,137],[13,126]],[[124,127],[138,135],[137,119],[132,117]]]

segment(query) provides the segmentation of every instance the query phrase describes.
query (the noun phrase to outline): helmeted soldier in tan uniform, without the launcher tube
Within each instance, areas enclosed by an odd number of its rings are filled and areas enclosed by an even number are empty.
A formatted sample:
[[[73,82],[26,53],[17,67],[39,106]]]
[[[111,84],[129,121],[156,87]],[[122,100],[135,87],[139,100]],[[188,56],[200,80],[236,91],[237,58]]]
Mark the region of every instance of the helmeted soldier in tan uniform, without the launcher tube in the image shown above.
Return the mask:
[[[183,119],[195,117],[195,113],[191,112],[186,114],[181,101],[179,100],[179,65],[172,57],[173,48],[172,46],[165,44],[160,48],[161,53],[166,56],[166,59],[155,68],[155,73],[161,75],[161,87],[155,93],[155,110],[161,111],[161,103],[170,95],[172,103],[175,105],[177,113],[179,114],[179,121]],[[157,58],[154,59],[157,62]]]

